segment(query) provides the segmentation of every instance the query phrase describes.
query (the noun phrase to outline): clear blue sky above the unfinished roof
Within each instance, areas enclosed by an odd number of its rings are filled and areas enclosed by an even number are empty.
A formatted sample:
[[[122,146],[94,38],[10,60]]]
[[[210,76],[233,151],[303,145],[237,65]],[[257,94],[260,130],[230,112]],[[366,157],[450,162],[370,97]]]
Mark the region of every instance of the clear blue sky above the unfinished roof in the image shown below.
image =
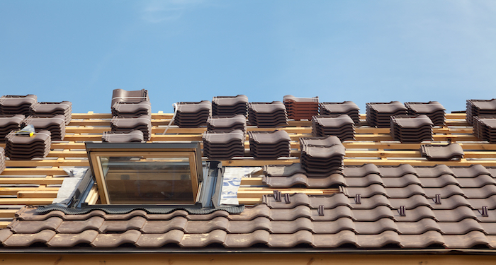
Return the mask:
[[[496,98],[496,1],[0,1],[0,94],[179,101]]]

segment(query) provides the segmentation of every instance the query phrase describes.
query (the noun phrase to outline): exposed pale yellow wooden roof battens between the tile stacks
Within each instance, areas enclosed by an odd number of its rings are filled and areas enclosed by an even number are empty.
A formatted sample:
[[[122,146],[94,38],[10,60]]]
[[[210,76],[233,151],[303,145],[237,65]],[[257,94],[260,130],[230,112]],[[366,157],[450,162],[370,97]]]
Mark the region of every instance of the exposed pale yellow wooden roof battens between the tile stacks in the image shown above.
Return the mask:
[[[50,204],[57,196],[58,187],[67,176],[62,167],[88,166],[84,141],[101,141],[103,131],[110,131],[112,116],[107,113],[73,113],[72,122],[66,128],[65,141],[53,142],[52,151],[45,159],[35,160],[7,160],[6,168],[0,175],[0,204],[44,205]],[[171,126],[167,135],[162,135],[165,126],[172,118],[171,113],[152,114],[152,141],[201,141],[201,134],[205,128],[178,128]],[[345,165],[363,165],[374,163],[376,165],[436,165],[441,162],[427,161],[421,157],[420,143],[399,143],[393,141],[388,128],[371,128],[366,126],[365,114],[360,115],[361,126],[356,126],[356,140],[345,141]],[[253,158],[235,158],[222,161],[225,166],[262,166],[262,165],[291,165],[298,163],[300,156],[300,137],[311,136],[311,121],[290,121],[283,128],[256,128],[249,126],[248,131],[273,131],[285,130],[291,136],[291,159],[254,160]],[[473,165],[496,166],[496,145],[478,141],[472,135],[472,127],[468,126],[465,114],[446,114],[446,126],[436,126],[434,142],[448,144],[456,142],[465,151],[462,160],[442,162],[446,165]],[[4,147],[4,143],[0,143]],[[249,141],[246,139],[244,146],[249,154]],[[59,176],[59,177],[57,177]],[[22,186],[20,186],[22,185]],[[26,187],[23,187],[26,186]],[[98,200],[97,192],[92,190],[87,203],[94,204]],[[307,194],[332,194],[337,189],[278,189],[283,194],[305,192]],[[243,204],[257,204],[261,202],[263,194],[271,194],[274,189],[266,187],[261,177],[242,179],[239,189],[239,201]],[[1,218],[11,218],[16,209],[0,210]],[[0,222],[6,225],[8,222]]]

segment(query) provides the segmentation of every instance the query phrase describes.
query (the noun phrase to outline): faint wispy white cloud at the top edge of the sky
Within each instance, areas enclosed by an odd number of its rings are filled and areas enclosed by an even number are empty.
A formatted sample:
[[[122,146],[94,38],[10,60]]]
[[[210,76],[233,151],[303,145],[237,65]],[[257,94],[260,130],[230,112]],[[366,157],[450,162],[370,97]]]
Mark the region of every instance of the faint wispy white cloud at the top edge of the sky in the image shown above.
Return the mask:
[[[142,9],[142,19],[149,23],[178,20],[188,9],[202,3],[203,0],[147,1]]]

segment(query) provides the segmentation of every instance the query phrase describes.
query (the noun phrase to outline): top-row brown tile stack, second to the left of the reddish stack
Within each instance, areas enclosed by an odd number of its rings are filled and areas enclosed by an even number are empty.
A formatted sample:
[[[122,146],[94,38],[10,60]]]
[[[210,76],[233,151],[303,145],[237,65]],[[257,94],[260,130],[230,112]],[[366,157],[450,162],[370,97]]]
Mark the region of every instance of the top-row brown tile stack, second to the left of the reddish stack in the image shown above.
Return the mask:
[[[248,97],[246,95],[213,97],[212,114],[213,116],[242,114],[246,117],[248,114]]]

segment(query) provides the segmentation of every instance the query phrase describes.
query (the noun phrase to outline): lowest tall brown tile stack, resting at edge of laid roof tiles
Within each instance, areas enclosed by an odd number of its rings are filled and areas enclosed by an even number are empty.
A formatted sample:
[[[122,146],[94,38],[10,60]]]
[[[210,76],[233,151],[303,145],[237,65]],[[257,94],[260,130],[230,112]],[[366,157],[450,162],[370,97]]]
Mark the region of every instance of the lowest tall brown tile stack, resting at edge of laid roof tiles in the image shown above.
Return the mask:
[[[300,163],[308,176],[327,177],[343,170],[344,146],[336,136],[300,141]]]

